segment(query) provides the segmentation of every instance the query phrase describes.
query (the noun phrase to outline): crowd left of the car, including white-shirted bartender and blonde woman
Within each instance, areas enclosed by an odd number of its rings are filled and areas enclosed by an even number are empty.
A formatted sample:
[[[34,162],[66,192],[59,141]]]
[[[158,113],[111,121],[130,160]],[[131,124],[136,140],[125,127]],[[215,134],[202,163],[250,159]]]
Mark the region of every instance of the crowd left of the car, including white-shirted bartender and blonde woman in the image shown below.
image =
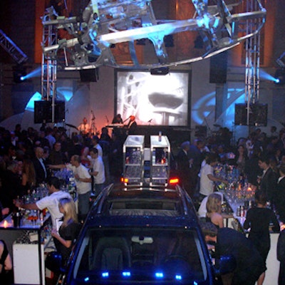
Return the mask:
[[[71,138],[64,128],[42,125],[40,130],[0,128],[0,220],[19,209],[51,215],[53,242],[66,264],[78,230],[90,206],[90,196],[97,196],[105,185],[118,182],[123,171],[123,135],[107,128],[95,135],[84,131]],[[62,187],[56,172],[63,167],[73,172],[78,197]],[[46,185],[48,195],[37,201],[27,199],[37,187]],[[10,255],[0,242],[0,275],[11,284]],[[1,280],[4,280],[1,275]],[[9,279],[9,280],[8,280]]]

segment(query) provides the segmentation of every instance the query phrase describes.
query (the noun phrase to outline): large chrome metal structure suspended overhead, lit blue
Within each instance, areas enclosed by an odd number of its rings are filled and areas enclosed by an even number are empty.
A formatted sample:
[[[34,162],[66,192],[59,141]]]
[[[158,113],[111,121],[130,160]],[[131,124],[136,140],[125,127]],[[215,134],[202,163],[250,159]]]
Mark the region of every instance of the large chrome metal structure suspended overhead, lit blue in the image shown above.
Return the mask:
[[[91,0],[82,16],[43,17],[44,28],[64,30],[69,35],[56,42],[43,42],[43,56],[57,60],[58,68],[64,70],[98,66],[150,70],[199,61],[257,35],[264,25],[266,10],[259,0],[251,1],[254,9],[238,14],[231,11],[242,6],[243,1],[232,2],[217,0],[217,5],[208,6],[207,0],[192,0],[196,10],[192,19],[157,21],[151,0]],[[247,29],[249,23],[252,26]],[[199,32],[205,52],[202,56],[171,61],[164,38],[186,31]],[[155,62],[139,62],[135,41],[142,38],[152,43]],[[125,64],[117,62],[112,51],[113,45],[120,43],[128,43],[131,61]]]

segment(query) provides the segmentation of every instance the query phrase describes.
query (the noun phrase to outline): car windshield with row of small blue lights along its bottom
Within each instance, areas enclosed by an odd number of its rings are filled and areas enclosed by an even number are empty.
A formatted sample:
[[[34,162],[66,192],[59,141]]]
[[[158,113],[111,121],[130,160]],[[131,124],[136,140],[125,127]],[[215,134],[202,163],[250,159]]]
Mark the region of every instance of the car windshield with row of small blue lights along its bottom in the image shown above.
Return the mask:
[[[199,284],[207,279],[194,229],[89,229],[78,250],[76,284]]]

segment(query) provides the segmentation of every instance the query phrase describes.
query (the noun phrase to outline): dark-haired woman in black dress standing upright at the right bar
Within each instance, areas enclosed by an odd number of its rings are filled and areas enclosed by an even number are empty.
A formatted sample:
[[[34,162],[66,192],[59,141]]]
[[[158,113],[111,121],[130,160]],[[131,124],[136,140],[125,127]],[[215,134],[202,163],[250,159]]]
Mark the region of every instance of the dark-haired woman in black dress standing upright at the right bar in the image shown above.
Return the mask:
[[[273,224],[272,230],[274,232],[279,232],[280,226],[275,213],[271,209],[266,208],[266,196],[263,192],[257,191],[255,193],[255,202],[257,207],[247,211],[244,229],[250,228],[249,239],[252,240],[264,260],[264,264],[266,264],[266,258],[270,249],[269,224]],[[263,284],[264,278],[265,274],[260,276],[257,284]]]

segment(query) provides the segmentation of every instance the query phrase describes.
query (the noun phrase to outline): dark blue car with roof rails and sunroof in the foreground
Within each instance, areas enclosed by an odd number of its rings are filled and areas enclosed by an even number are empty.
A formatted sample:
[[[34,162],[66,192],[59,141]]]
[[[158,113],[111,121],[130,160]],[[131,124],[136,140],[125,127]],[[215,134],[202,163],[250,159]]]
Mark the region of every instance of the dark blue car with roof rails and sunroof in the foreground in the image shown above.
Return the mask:
[[[95,200],[63,284],[214,284],[190,197],[179,186],[110,185]]]

